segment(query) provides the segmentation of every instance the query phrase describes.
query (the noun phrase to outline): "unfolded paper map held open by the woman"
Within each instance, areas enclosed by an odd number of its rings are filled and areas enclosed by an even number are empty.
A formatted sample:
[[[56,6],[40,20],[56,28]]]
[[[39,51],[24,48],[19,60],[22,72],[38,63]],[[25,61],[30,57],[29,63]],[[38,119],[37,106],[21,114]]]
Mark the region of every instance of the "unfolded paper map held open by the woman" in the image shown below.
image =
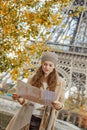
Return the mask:
[[[40,90],[21,80],[17,82],[17,94],[39,104],[51,105],[56,100],[56,93],[49,90]]]

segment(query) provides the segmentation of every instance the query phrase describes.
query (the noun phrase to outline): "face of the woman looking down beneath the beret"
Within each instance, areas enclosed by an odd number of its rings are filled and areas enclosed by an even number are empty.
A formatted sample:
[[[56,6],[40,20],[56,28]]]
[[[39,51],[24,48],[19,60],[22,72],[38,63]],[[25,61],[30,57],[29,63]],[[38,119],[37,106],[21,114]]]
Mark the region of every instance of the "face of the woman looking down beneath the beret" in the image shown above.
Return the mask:
[[[54,63],[51,61],[44,61],[42,63],[42,70],[45,73],[45,76],[48,76],[54,69]]]

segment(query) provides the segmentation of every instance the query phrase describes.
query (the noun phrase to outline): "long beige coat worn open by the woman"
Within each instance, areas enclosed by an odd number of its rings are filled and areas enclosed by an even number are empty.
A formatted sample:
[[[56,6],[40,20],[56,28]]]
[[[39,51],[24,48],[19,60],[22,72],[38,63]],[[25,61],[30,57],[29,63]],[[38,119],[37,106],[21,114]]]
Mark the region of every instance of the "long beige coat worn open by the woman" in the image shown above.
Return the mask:
[[[64,103],[65,81],[60,78],[61,85],[56,87],[57,100]],[[30,124],[32,111],[34,106],[32,104],[23,105],[22,108],[14,115],[9,122],[6,130],[29,130],[29,127],[24,127]],[[58,111],[53,108],[45,107],[39,130],[54,130],[55,119]]]

